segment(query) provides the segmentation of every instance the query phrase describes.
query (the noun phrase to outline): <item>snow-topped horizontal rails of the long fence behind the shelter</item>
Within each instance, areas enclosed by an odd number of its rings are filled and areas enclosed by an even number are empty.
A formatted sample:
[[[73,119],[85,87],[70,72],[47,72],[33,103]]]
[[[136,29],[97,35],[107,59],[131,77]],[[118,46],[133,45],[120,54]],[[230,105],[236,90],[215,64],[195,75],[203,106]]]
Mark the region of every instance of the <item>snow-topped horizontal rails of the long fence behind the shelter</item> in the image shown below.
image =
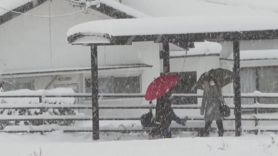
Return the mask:
[[[202,97],[201,94],[173,94],[173,96],[182,96],[182,97]],[[225,98],[232,98],[234,97],[233,94],[223,94]],[[0,109],[62,109],[62,108],[69,108],[69,109],[92,109],[91,105],[72,105],[72,104],[47,104],[47,103],[41,103],[43,98],[46,97],[91,97],[91,94],[87,93],[68,93],[68,94],[0,94],[0,98],[39,98],[39,103],[38,104],[24,104],[24,103],[1,103],[0,104]],[[102,97],[108,97],[108,98],[143,98],[145,97],[144,94],[99,94],[100,99]],[[242,98],[258,98],[258,97],[269,97],[269,98],[276,98],[278,97],[277,93],[260,93],[260,92],[254,92],[254,93],[242,93],[241,94]],[[231,109],[234,109],[234,105],[229,105]],[[150,104],[150,105],[102,105],[99,106],[99,109],[154,109],[155,105]],[[200,109],[201,105],[172,105],[173,109]],[[254,109],[255,114],[253,115],[242,115],[242,120],[246,121],[255,121],[255,126],[258,125],[258,121],[276,121],[278,120],[278,115],[262,115],[262,114],[257,114],[257,109],[258,108],[278,108],[278,104],[260,104],[260,103],[255,103],[253,105],[241,105],[242,109]],[[11,116],[11,115],[1,115],[0,116],[0,121],[34,121],[34,120],[40,120],[40,121],[48,121],[48,120],[76,120],[76,121],[85,121],[85,120],[92,120],[92,116],[84,116],[84,115],[47,115],[47,114],[40,114],[36,116]],[[188,120],[203,120],[203,116],[188,116]],[[140,120],[140,117],[101,117],[99,120]],[[229,118],[225,118],[224,120],[235,120],[235,116],[231,115]],[[10,126],[11,127],[11,126]],[[113,132],[122,132],[122,130],[105,130],[104,127],[100,127],[100,131],[113,131]],[[277,131],[278,129],[269,129],[269,130],[264,130],[264,131]],[[12,130],[12,131],[5,131],[1,130],[0,132],[26,132],[26,130]],[[38,132],[47,132],[48,130],[40,130]],[[53,131],[53,130],[50,130]],[[64,129],[64,132],[85,132],[85,131],[90,131],[90,130],[85,130],[85,129]],[[133,131],[133,130],[126,130],[128,132]],[[135,131],[139,131],[136,129]],[[140,130],[141,131],[141,130]],[[226,131],[233,131],[233,130],[226,130]],[[243,130],[246,131],[246,130]],[[250,131],[250,130],[249,130]],[[258,132],[258,128],[253,128],[251,131],[255,131],[256,133]],[[35,131],[34,131],[35,132]]]

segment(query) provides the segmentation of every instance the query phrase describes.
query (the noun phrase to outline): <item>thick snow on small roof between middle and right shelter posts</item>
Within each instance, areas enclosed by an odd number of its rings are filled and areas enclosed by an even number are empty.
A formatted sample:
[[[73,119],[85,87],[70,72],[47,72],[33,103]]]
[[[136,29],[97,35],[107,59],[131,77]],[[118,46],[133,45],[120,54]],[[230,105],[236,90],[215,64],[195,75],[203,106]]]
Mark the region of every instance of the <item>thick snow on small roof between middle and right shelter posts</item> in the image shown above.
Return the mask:
[[[174,56],[190,56],[190,55],[208,55],[219,54],[222,50],[222,45],[216,42],[194,42],[195,48],[190,48],[188,51],[171,51],[170,57]]]

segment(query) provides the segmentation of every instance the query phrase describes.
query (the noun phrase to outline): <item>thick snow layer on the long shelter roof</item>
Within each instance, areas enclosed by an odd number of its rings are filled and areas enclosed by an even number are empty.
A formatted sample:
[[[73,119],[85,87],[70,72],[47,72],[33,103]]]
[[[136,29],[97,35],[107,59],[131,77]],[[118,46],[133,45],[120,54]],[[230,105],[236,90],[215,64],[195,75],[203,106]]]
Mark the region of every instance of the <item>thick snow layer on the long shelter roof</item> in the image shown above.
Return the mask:
[[[165,35],[165,34],[194,34],[194,33],[219,33],[217,37],[230,37],[230,32],[237,31],[265,31],[278,29],[278,17],[265,16],[188,16],[188,17],[160,17],[160,18],[135,18],[90,21],[78,24],[67,32],[68,41],[72,44],[84,36],[101,37],[107,39],[122,36]],[[277,30],[276,30],[277,31]],[[239,35],[252,39],[268,38],[269,34],[244,34]],[[264,32],[265,33],[265,32]],[[274,32],[268,32],[274,35]],[[276,32],[277,33],[277,32]],[[207,36],[206,37],[214,37]],[[276,37],[277,35],[274,35]],[[259,37],[259,38],[258,38]],[[273,36],[271,36],[273,37]],[[184,38],[184,37],[183,37]],[[231,39],[230,39],[231,40]],[[88,42],[86,42],[88,41]],[[196,40],[195,40],[196,41]],[[83,40],[82,44],[95,43],[93,39]],[[98,38],[96,43],[100,43]]]

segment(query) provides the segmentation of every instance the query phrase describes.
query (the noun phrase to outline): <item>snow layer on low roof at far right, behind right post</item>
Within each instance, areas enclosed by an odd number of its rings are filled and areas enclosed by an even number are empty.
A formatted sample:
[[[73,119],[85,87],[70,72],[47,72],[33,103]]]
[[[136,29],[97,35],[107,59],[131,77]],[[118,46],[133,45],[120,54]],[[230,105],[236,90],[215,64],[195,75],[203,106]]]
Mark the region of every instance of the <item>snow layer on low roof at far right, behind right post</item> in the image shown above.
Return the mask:
[[[233,54],[228,59],[233,60]],[[278,59],[278,49],[240,51],[240,60],[249,59]]]

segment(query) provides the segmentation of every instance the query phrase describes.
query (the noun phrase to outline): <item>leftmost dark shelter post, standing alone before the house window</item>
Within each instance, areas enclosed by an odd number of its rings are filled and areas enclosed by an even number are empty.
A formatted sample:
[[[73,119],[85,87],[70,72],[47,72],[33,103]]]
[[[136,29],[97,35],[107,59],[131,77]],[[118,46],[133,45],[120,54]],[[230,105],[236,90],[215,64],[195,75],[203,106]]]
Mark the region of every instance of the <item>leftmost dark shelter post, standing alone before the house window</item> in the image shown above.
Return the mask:
[[[99,139],[99,96],[98,96],[98,55],[97,45],[91,45],[91,86],[92,86],[92,115],[93,140]]]

